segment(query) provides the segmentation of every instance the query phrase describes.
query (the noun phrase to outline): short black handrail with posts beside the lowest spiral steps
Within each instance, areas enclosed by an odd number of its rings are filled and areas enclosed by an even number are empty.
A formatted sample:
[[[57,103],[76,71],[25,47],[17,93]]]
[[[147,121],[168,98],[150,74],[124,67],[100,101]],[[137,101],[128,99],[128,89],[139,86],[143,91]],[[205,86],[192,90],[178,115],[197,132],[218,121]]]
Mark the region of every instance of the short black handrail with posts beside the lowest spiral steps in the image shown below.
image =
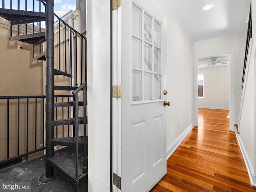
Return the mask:
[[[84,174],[87,174],[88,173],[88,168],[87,168],[87,165],[88,165],[88,162],[87,162],[87,136],[86,136],[86,122],[87,122],[87,114],[86,114],[86,97],[87,97],[87,81],[85,83],[83,83],[80,87],[76,88],[76,90],[74,90],[72,92],[72,94],[75,96],[75,100],[76,100],[76,106],[75,106],[75,110],[76,110],[76,113],[75,113],[75,118],[76,118],[76,180],[78,181],[78,176],[79,176],[79,172],[78,172],[78,136],[79,136],[79,124],[78,124],[78,101],[79,101],[79,98],[78,98],[78,94],[79,92],[83,90],[84,94],[83,94],[83,100],[84,100],[84,109],[83,109],[83,118],[84,118]],[[76,185],[77,188],[78,188],[78,184]]]

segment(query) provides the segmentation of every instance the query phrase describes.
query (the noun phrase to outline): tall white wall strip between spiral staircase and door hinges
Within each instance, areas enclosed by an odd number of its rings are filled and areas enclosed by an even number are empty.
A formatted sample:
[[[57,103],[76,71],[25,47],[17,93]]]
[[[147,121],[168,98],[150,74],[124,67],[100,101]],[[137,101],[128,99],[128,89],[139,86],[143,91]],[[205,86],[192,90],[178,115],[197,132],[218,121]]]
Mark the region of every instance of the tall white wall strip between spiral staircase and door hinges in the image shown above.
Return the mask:
[[[87,2],[89,191],[110,191],[110,1]]]

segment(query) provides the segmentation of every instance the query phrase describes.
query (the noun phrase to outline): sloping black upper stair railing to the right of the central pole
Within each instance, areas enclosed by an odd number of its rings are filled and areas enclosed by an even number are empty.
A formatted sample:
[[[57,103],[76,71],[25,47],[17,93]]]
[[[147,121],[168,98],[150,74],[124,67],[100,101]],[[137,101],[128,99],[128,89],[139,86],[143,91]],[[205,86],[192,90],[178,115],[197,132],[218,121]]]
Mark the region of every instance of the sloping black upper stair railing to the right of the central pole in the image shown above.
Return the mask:
[[[58,26],[54,30],[54,33],[58,34],[58,40],[55,46],[57,55],[55,57],[55,68],[65,73],[73,74],[74,76],[72,75],[70,82],[77,87],[79,83],[82,85],[86,81],[86,37],[56,14],[54,16],[57,18],[55,23]],[[72,71],[73,69],[74,71]],[[78,74],[78,70],[80,70],[80,74]]]

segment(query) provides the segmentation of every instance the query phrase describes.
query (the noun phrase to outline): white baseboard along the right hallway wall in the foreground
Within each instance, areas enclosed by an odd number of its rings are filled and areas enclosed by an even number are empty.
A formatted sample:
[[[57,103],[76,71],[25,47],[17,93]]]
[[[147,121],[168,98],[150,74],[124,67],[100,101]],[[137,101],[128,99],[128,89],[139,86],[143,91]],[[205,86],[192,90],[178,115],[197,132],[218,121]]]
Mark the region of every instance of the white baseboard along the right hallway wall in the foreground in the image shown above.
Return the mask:
[[[247,171],[248,171],[248,175],[249,175],[249,178],[250,178],[251,185],[256,186],[256,173],[253,170],[252,163],[250,162],[248,154],[247,154],[247,152],[244,148],[244,144],[243,144],[243,142],[240,138],[240,135],[237,133],[236,129],[235,129],[235,133],[236,133],[236,138],[237,138],[240,150],[242,152],[242,156],[244,158],[244,162],[245,162],[245,165],[246,165],[246,168],[247,168]]]

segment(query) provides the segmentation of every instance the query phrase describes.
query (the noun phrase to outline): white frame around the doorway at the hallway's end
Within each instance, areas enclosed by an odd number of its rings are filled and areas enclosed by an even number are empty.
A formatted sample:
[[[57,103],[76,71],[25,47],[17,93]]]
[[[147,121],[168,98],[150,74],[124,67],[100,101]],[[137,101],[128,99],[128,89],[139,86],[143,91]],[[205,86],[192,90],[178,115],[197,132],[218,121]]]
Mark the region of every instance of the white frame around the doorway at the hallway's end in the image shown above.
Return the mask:
[[[224,52],[210,56],[202,56],[194,62],[194,125],[198,126],[198,60],[220,55],[229,55],[229,125],[230,131],[234,132],[234,52]]]

